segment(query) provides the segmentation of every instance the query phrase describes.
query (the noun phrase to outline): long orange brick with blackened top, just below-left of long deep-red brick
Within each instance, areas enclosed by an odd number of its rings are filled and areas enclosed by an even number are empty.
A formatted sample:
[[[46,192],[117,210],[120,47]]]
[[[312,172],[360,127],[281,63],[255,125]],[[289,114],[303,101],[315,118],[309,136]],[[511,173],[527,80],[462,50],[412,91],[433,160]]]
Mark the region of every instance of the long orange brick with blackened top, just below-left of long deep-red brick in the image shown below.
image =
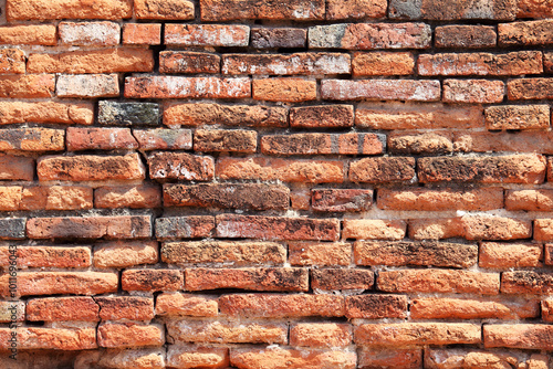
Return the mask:
[[[286,260],[284,246],[273,242],[165,242],[161,260],[169,264],[215,264],[232,266],[282,265]]]

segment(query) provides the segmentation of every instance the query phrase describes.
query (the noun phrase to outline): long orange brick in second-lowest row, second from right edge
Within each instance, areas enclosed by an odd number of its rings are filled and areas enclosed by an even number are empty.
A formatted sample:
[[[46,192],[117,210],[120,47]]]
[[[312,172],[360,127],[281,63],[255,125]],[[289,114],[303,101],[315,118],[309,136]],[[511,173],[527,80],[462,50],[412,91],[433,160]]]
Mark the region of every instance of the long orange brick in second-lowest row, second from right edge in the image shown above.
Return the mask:
[[[467,323],[364,324],[354,330],[362,346],[480,344],[480,325]]]

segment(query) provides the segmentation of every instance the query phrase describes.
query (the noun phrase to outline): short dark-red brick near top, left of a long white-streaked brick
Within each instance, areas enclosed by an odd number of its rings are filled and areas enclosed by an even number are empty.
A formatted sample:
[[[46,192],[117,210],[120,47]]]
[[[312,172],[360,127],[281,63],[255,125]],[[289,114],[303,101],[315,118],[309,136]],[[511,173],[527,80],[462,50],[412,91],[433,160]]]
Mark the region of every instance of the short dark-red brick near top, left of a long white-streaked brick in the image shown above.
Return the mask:
[[[210,53],[161,51],[159,73],[219,73],[221,57]]]

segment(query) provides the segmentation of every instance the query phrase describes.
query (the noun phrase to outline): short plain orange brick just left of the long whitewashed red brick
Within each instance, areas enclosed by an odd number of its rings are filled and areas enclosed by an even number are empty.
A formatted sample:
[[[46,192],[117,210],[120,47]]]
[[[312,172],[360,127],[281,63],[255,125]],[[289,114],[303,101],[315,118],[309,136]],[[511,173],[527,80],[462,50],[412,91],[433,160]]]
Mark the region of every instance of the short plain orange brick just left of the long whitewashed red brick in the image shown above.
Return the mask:
[[[302,78],[253,80],[254,99],[283,103],[301,103],[316,99],[316,81]]]

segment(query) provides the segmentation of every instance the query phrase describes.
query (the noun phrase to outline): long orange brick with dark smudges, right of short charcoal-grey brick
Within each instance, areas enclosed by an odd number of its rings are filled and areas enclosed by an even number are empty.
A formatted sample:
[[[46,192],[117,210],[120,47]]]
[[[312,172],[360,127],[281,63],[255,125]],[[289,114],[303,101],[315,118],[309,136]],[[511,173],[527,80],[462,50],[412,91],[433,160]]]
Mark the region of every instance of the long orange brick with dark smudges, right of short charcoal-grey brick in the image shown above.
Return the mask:
[[[240,127],[286,127],[286,116],[288,109],[278,106],[167,104],[164,109],[164,124],[167,126],[219,124]]]

